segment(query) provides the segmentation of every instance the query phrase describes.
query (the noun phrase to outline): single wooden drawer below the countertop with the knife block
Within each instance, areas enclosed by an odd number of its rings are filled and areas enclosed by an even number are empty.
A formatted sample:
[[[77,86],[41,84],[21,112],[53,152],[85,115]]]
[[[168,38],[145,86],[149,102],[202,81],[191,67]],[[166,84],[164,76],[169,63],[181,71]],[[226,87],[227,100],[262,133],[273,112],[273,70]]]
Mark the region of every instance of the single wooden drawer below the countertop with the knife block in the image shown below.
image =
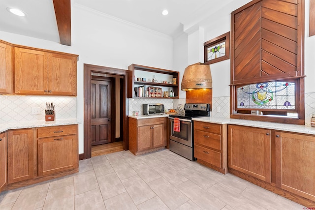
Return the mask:
[[[45,138],[52,136],[64,136],[77,134],[77,125],[62,125],[51,127],[40,127],[37,129],[37,138]]]

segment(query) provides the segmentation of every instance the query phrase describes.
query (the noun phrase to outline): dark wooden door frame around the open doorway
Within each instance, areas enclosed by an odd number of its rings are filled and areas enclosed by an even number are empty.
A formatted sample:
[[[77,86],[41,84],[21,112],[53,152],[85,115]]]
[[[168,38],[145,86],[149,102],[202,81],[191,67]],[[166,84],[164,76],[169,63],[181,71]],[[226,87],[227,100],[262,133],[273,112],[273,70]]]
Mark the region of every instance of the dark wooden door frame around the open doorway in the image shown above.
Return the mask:
[[[128,150],[128,103],[127,103],[127,76],[128,70],[98,66],[84,63],[84,159],[91,158],[91,80],[93,73],[108,73],[124,77],[123,84],[123,145]]]

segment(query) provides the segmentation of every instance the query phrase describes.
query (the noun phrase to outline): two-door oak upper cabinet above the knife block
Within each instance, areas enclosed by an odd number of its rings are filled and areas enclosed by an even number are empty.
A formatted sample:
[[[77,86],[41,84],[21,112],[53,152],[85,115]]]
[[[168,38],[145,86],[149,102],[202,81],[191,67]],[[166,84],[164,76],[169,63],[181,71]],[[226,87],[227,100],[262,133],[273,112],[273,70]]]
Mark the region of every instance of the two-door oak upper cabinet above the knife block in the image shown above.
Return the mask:
[[[77,56],[15,47],[16,94],[76,95]]]

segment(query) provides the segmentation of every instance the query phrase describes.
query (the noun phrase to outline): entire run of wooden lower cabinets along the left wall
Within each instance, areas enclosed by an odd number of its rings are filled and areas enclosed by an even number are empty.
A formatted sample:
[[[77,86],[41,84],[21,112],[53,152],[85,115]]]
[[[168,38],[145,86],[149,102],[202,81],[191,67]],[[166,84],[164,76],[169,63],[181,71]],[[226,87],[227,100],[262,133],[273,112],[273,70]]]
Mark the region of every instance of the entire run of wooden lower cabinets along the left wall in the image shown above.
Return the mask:
[[[9,130],[0,139],[0,191],[78,172],[77,124]]]

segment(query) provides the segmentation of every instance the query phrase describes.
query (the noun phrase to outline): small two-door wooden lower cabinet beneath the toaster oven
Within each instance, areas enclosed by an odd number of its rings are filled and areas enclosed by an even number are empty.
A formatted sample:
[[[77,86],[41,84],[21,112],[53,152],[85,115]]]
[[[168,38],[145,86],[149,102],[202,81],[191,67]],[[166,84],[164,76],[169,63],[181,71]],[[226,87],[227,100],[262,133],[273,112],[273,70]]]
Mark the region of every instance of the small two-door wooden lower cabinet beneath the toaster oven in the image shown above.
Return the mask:
[[[134,154],[165,148],[167,118],[129,118],[129,150]]]

